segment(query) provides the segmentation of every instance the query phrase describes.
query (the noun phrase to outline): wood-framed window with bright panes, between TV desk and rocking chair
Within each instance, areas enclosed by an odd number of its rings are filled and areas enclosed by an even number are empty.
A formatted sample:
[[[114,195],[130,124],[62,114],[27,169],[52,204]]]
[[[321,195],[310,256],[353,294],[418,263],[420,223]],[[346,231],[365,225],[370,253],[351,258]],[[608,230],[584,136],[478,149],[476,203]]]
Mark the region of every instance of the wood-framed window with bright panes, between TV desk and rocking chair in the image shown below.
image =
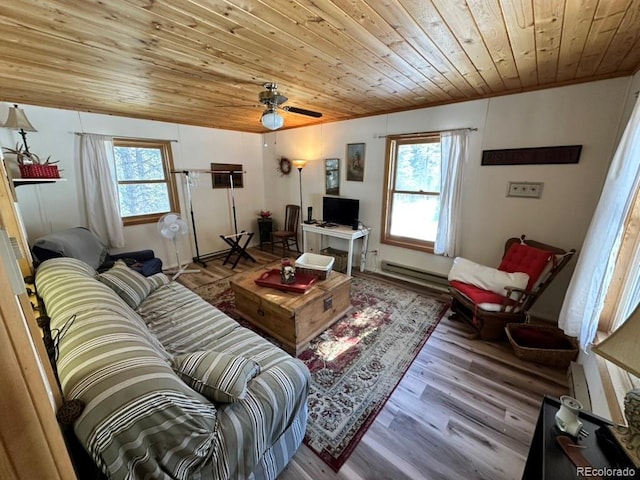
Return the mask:
[[[433,252],[440,214],[440,136],[387,138],[382,243]]]

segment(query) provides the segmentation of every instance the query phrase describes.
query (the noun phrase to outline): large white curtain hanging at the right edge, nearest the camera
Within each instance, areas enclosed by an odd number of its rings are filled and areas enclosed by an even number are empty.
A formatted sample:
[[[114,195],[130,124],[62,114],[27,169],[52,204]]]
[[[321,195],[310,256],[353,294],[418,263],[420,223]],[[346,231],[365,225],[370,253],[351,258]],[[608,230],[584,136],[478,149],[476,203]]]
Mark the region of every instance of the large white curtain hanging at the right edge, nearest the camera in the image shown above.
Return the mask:
[[[605,180],[600,201],[578,258],[560,311],[559,325],[577,336],[580,346],[593,343],[604,299],[620,250],[624,226],[640,180],[640,102],[636,101]]]

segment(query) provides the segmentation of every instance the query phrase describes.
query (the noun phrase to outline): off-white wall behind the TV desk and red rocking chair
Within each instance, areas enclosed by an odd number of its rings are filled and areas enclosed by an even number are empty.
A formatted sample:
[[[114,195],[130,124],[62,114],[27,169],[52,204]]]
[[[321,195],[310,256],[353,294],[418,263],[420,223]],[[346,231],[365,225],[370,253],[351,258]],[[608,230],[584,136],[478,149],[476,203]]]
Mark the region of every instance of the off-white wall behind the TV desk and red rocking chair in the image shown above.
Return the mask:
[[[360,199],[360,220],[373,227],[369,249],[379,250],[378,260],[446,273],[448,258],[380,244],[385,140],[379,137],[474,127],[478,131],[470,135],[464,170],[461,255],[497,266],[504,241],[523,233],[579,251],[615,148],[630,81],[617,78],[266,135],[266,206],[278,213],[285,203],[299,203],[297,172],[281,177],[275,167],[281,156],[305,158],[310,163],[302,173],[303,204],[305,209],[312,205],[314,216],[321,218],[323,160],[338,157],[341,196]],[[366,143],[364,182],[347,182],[346,144],[359,142]],[[480,164],[482,150],[574,144],[583,146],[577,164]],[[542,198],[507,198],[509,181],[543,182]],[[310,247],[317,245],[310,242]],[[556,319],[574,264],[543,294],[535,314]],[[368,269],[377,266],[368,260]]]

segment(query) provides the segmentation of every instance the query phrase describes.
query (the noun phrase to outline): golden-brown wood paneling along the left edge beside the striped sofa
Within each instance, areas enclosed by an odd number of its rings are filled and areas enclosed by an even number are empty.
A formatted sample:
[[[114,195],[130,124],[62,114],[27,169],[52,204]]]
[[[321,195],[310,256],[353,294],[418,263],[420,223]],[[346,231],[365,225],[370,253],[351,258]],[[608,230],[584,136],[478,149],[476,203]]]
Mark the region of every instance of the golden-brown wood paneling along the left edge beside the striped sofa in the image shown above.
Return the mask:
[[[0,177],[0,227],[24,246],[5,172]],[[31,273],[29,261],[21,268]],[[13,294],[1,260],[0,292],[0,478],[75,479],[55,416],[61,394],[31,304],[26,293]]]

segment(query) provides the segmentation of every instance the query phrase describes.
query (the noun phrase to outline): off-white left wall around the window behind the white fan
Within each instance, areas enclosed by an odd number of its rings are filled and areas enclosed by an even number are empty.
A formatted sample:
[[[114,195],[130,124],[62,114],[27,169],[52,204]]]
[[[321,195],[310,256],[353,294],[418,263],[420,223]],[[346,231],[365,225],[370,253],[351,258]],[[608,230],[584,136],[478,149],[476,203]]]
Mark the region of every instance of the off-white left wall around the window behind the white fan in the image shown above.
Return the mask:
[[[0,104],[3,121],[9,106]],[[38,130],[27,134],[30,150],[45,158],[51,155],[52,160],[59,162],[65,178],[55,184],[23,185],[16,189],[30,243],[56,230],[86,225],[74,132],[177,140],[171,144],[176,170],[206,170],[212,162],[243,164],[245,186],[235,189],[238,230],[255,231],[255,220],[264,199],[261,135],[30,105],[20,107]],[[13,147],[16,143],[22,143],[18,132],[0,129],[0,145]],[[12,170],[17,177],[17,168],[13,166]],[[177,178],[182,214],[190,222],[184,177],[177,175]],[[219,235],[234,232],[229,190],[212,189],[211,177],[201,174],[192,193],[200,254],[225,249]],[[121,251],[151,248],[166,265],[176,263],[173,245],[159,236],[155,224],[126,227],[125,240],[126,246]],[[181,260],[190,260],[194,254],[190,233],[189,238],[180,242]]]

